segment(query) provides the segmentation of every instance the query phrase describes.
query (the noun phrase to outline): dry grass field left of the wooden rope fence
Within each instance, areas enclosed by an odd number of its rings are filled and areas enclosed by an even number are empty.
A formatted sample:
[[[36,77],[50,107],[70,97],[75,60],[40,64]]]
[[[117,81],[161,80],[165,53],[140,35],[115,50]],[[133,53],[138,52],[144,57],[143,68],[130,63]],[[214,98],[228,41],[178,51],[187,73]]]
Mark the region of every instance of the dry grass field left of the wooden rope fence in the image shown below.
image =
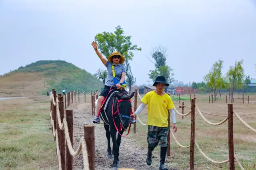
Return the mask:
[[[56,170],[49,98],[0,100],[0,169]]]

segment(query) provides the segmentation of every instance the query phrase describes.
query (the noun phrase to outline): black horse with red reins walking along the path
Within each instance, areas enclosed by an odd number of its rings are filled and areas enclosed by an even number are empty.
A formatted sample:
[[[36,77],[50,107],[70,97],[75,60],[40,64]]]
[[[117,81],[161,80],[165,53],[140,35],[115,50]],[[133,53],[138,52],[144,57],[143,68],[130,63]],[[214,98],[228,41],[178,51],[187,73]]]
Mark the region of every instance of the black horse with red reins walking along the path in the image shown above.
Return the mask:
[[[131,119],[130,115],[132,114],[132,102],[130,99],[134,96],[135,92],[132,92],[132,94],[129,95],[126,91],[114,89],[113,93],[114,94],[110,97],[106,107],[106,112],[103,109],[104,106],[102,107],[100,119],[104,121],[104,128],[108,139],[107,158],[110,159],[113,157],[112,154],[114,155],[113,168],[117,170],[117,165],[120,164],[118,156],[122,134],[128,127],[128,133],[130,131],[131,124],[129,121]],[[117,139],[116,132],[118,132]],[[110,137],[112,138],[113,143],[112,152],[110,147]]]

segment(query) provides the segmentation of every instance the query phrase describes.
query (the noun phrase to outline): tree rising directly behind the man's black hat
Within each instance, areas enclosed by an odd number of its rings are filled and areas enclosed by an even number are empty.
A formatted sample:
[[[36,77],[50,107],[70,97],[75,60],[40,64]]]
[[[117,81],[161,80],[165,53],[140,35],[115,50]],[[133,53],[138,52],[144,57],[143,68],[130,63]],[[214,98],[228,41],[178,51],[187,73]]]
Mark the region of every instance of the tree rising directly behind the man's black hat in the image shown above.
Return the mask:
[[[168,84],[174,82],[174,78],[172,77],[174,76],[174,73],[172,73],[173,69],[166,65],[166,48],[159,45],[159,47],[153,49],[150,55],[155,60],[153,62],[148,58],[155,65],[155,70],[150,70],[150,74],[148,74],[150,80],[154,82],[157,76],[164,76]],[[165,92],[167,92],[167,88],[165,88]]]

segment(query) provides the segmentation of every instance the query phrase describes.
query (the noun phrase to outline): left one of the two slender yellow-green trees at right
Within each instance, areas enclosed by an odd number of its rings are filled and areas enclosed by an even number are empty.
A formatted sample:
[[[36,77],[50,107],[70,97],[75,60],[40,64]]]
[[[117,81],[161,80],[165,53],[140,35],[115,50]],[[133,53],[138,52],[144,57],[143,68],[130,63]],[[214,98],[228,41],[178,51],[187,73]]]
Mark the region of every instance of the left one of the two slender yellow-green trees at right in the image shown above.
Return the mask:
[[[212,88],[214,92],[214,102],[216,102],[216,96],[218,94],[218,88],[223,80],[221,70],[223,68],[223,61],[218,60],[213,65],[208,74],[204,76],[206,85]]]

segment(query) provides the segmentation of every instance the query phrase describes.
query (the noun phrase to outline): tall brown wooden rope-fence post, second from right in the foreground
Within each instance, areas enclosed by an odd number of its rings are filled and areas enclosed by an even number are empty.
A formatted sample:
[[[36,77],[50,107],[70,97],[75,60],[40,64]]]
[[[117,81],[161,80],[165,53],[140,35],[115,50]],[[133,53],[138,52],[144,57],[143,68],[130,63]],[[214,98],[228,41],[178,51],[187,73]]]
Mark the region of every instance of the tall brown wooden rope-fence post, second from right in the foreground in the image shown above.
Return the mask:
[[[195,104],[196,98],[191,100],[191,132],[190,132],[190,170],[194,170],[194,145],[195,145]]]

